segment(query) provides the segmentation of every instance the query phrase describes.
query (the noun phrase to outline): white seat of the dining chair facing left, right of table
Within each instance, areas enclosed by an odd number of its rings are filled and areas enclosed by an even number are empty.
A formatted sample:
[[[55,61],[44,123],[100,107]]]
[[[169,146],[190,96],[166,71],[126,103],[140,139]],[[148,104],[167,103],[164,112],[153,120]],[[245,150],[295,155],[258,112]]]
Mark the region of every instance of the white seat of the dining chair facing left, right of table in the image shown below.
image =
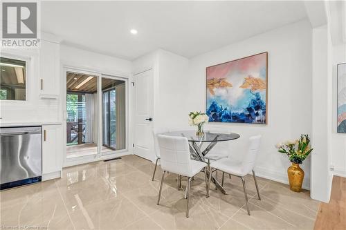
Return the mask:
[[[211,162],[210,167],[213,169],[219,169],[225,173],[238,175],[240,177],[244,177],[244,175],[246,175],[246,173],[242,171],[242,162],[235,161],[230,157]]]

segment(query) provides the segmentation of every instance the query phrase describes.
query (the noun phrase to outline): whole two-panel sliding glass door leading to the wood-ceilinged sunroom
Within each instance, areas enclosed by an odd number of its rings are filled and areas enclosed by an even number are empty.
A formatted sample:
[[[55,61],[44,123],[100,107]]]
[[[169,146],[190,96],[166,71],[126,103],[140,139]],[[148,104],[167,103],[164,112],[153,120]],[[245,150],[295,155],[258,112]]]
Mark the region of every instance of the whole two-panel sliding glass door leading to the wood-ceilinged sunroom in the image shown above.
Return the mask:
[[[127,79],[66,70],[66,162],[127,149]]]

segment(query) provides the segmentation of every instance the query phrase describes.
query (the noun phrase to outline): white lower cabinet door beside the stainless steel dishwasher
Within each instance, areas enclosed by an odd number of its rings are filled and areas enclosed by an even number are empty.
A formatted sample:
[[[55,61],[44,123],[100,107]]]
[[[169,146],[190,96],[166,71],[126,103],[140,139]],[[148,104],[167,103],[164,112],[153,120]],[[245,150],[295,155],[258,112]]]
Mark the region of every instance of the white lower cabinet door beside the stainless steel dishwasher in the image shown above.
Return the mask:
[[[62,126],[42,126],[42,174],[62,170]]]

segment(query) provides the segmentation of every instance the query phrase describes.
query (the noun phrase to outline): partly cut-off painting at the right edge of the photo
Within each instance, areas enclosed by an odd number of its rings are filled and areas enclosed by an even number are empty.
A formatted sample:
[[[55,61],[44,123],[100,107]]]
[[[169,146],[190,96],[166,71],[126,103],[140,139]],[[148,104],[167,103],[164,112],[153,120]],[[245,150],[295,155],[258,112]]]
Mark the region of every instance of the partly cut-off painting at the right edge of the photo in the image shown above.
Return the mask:
[[[346,133],[346,63],[338,64],[338,133]]]

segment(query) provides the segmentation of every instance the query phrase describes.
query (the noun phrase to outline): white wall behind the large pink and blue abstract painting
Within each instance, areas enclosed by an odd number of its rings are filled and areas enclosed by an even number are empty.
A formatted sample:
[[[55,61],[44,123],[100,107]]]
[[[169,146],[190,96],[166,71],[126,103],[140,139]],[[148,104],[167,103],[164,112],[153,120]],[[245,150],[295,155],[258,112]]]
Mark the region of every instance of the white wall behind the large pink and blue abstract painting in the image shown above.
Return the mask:
[[[190,59],[190,71],[184,84],[190,93],[183,97],[189,111],[206,110],[206,67],[241,57],[268,52],[268,124],[220,124],[239,133],[232,142],[233,157],[241,158],[248,137],[262,134],[262,147],[257,160],[257,175],[287,182],[289,160],[277,153],[277,142],[296,139],[301,133],[311,134],[311,26],[308,21],[284,26],[262,35],[213,50]],[[184,111],[187,115],[188,111]],[[185,117],[184,122],[187,123]],[[212,125],[212,123],[210,123]],[[303,186],[309,188],[309,158],[302,165]]]

